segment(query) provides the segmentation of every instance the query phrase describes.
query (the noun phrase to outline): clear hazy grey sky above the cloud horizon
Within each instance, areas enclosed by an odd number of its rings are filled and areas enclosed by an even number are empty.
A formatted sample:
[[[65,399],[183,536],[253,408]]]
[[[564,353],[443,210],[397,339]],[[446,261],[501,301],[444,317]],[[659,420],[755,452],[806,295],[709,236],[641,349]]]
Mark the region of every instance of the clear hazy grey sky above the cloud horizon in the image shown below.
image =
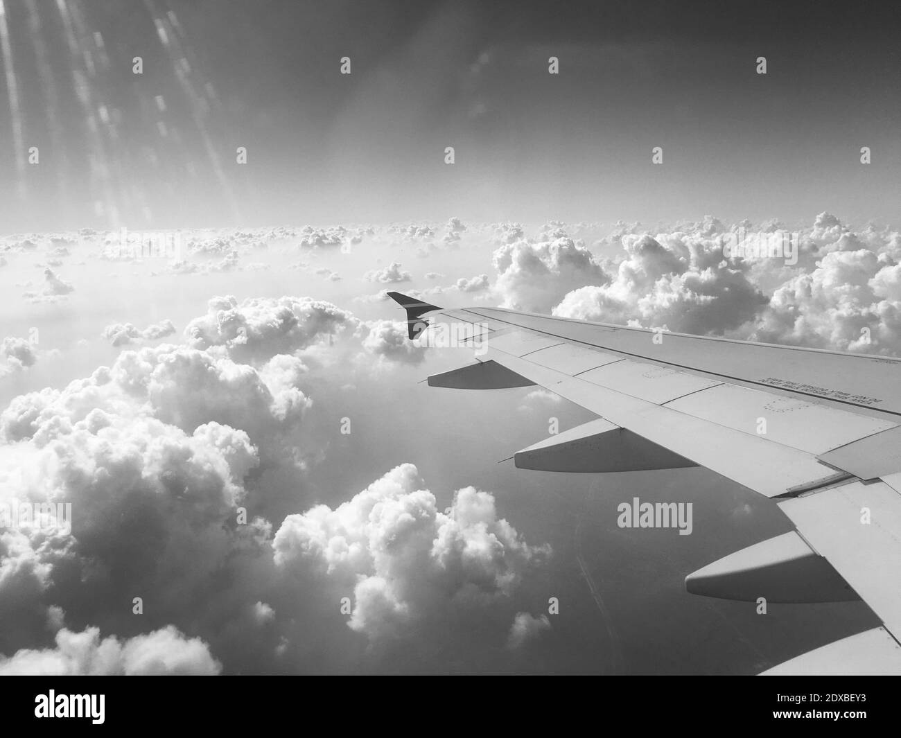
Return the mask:
[[[783,5],[5,0],[0,232],[896,220],[898,14]]]

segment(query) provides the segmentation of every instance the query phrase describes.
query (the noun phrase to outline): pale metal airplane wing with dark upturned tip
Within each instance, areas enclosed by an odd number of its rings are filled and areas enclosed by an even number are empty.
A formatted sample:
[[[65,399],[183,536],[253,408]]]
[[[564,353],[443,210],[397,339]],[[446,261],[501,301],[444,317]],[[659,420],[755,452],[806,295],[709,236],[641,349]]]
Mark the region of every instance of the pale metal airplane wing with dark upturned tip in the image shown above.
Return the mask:
[[[794,531],[698,569],[687,590],[862,599],[882,625],[764,673],[901,674],[901,360],[389,295],[411,338],[432,320],[476,350],[430,386],[537,385],[598,415],[516,452],[516,467],[703,466],[778,504]]]

